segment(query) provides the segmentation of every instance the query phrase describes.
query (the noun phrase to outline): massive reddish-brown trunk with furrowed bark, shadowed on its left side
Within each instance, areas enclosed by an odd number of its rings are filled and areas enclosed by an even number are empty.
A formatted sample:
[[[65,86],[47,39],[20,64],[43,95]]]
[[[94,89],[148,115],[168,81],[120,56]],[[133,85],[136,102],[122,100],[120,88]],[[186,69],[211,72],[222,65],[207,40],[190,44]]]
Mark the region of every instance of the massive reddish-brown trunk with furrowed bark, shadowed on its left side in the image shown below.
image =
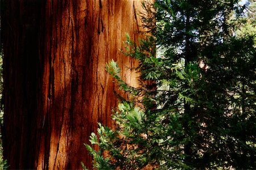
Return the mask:
[[[139,1],[5,1],[4,156],[11,169],[91,167],[83,143],[97,122],[111,126],[117,104],[105,71],[118,61],[126,82],[137,74],[123,56],[125,33],[137,39]]]

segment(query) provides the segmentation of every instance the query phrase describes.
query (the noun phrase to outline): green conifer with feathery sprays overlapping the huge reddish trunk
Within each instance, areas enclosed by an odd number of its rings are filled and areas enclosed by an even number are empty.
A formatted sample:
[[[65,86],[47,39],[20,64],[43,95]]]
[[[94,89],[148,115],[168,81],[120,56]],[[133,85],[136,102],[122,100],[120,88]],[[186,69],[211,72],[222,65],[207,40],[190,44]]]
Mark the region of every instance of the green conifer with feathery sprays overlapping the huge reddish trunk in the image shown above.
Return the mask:
[[[99,124],[92,133],[90,142],[100,147],[86,146],[94,168],[256,168],[256,31],[247,12],[255,4],[143,5],[150,31],[140,44],[128,36],[123,50],[138,59],[142,86],[123,82],[114,61],[106,65],[130,98],[113,114],[115,129]]]

